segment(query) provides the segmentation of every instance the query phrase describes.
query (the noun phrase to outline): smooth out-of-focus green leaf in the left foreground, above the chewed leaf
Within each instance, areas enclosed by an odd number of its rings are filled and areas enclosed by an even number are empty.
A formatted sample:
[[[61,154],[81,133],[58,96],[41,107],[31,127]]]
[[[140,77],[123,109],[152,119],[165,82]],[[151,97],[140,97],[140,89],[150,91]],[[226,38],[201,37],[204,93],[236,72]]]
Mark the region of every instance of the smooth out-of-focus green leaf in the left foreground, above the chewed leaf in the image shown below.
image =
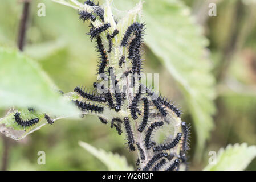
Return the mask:
[[[56,115],[79,114],[54,92],[56,86],[39,65],[21,52],[0,47],[0,107],[35,107]]]

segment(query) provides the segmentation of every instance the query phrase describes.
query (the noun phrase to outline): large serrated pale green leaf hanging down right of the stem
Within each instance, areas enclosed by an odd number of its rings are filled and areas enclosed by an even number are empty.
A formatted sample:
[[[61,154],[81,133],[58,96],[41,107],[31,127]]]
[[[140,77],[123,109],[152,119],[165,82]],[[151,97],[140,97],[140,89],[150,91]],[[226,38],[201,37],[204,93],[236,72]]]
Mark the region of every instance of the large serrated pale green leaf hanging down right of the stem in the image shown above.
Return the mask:
[[[192,114],[198,159],[214,126],[215,81],[205,56],[208,41],[181,1],[145,1],[143,19],[147,28],[145,43],[177,82]]]

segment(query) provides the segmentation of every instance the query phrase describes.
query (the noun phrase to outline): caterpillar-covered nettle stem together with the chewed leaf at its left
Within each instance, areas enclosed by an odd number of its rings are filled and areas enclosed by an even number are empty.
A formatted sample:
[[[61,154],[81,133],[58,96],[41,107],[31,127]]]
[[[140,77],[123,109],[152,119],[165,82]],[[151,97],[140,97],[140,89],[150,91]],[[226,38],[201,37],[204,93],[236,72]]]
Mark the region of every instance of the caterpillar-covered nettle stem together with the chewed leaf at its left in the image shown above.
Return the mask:
[[[142,81],[145,24],[141,3],[123,19],[113,16],[109,3],[100,6],[87,0],[76,5],[79,19],[90,22],[87,35],[95,41],[99,53],[98,77],[92,92],[77,86],[74,92],[60,94],[73,102],[82,116],[96,115],[119,135],[125,133],[129,151],[139,156],[138,169],[186,169],[189,127],[181,121],[180,110]],[[30,107],[10,110],[1,123],[8,128],[6,135],[21,139],[59,118]]]

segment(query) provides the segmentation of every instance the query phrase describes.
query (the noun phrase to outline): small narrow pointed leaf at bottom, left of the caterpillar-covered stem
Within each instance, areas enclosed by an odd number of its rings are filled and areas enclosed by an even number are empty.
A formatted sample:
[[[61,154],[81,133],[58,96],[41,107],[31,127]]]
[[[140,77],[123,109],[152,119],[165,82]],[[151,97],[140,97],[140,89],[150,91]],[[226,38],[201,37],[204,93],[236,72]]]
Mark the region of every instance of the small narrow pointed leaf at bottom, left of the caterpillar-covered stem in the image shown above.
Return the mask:
[[[81,147],[94,155],[97,159],[107,166],[110,171],[132,171],[133,168],[128,166],[127,160],[124,156],[119,154],[113,154],[112,152],[106,152],[102,149],[97,150],[95,147],[85,142],[78,142]]]

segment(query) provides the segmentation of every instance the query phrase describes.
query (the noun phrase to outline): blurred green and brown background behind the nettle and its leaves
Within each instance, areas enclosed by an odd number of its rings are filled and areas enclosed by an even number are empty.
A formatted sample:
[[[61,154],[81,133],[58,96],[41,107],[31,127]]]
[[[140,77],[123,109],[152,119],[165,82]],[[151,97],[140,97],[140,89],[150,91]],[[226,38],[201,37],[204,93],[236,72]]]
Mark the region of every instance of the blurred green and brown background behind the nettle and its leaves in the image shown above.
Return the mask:
[[[122,7],[123,1],[115,1],[116,7],[127,8]],[[46,5],[45,17],[37,16],[40,2]],[[229,143],[256,143],[256,3],[253,0],[183,2],[190,7],[198,26],[202,26],[203,34],[209,40],[212,74],[216,78],[215,127],[201,160],[193,158],[197,140],[188,106],[166,67],[147,46],[144,46],[147,60],[144,72],[159,73],[161,93],[182,106],[182,120],[192,123],[189,169],[194,170],[205,167],[211,150],[218,151]],[[208,16],[210,2],[217,3],[217,17]],[[148,6],[147,1],[145,6]],[[17,47],[22,7],[21,1],[1,1],[0,46]],[[31,1],[24,52],[42,65],[64,93],[70,92],[78,84],[92,88],[92,82],[96,80],[97,53],[95,43],[85,35],[87,31],[87,24],[79,22],[74,9],[47,0]],[[193,47],[191,49],[193,51]],[[2,110],[1,117],[5,113]],[[128,163],[135,166],[136,155],[127,150],[124,135],[120,137],[115,130],[101,125],[95,117],[72,121],[62,119],[52,126],[42,127],[21,142],[3,137],[2,134],[1,137],[0,164],[3,165],[7,152],[5,169],[8,170],[107,169],[78,146],[79,140],[124,155]],[[37,164],[38,151],[46,152],[46,165]],[[256,169],[255,159],[247,169]]]

